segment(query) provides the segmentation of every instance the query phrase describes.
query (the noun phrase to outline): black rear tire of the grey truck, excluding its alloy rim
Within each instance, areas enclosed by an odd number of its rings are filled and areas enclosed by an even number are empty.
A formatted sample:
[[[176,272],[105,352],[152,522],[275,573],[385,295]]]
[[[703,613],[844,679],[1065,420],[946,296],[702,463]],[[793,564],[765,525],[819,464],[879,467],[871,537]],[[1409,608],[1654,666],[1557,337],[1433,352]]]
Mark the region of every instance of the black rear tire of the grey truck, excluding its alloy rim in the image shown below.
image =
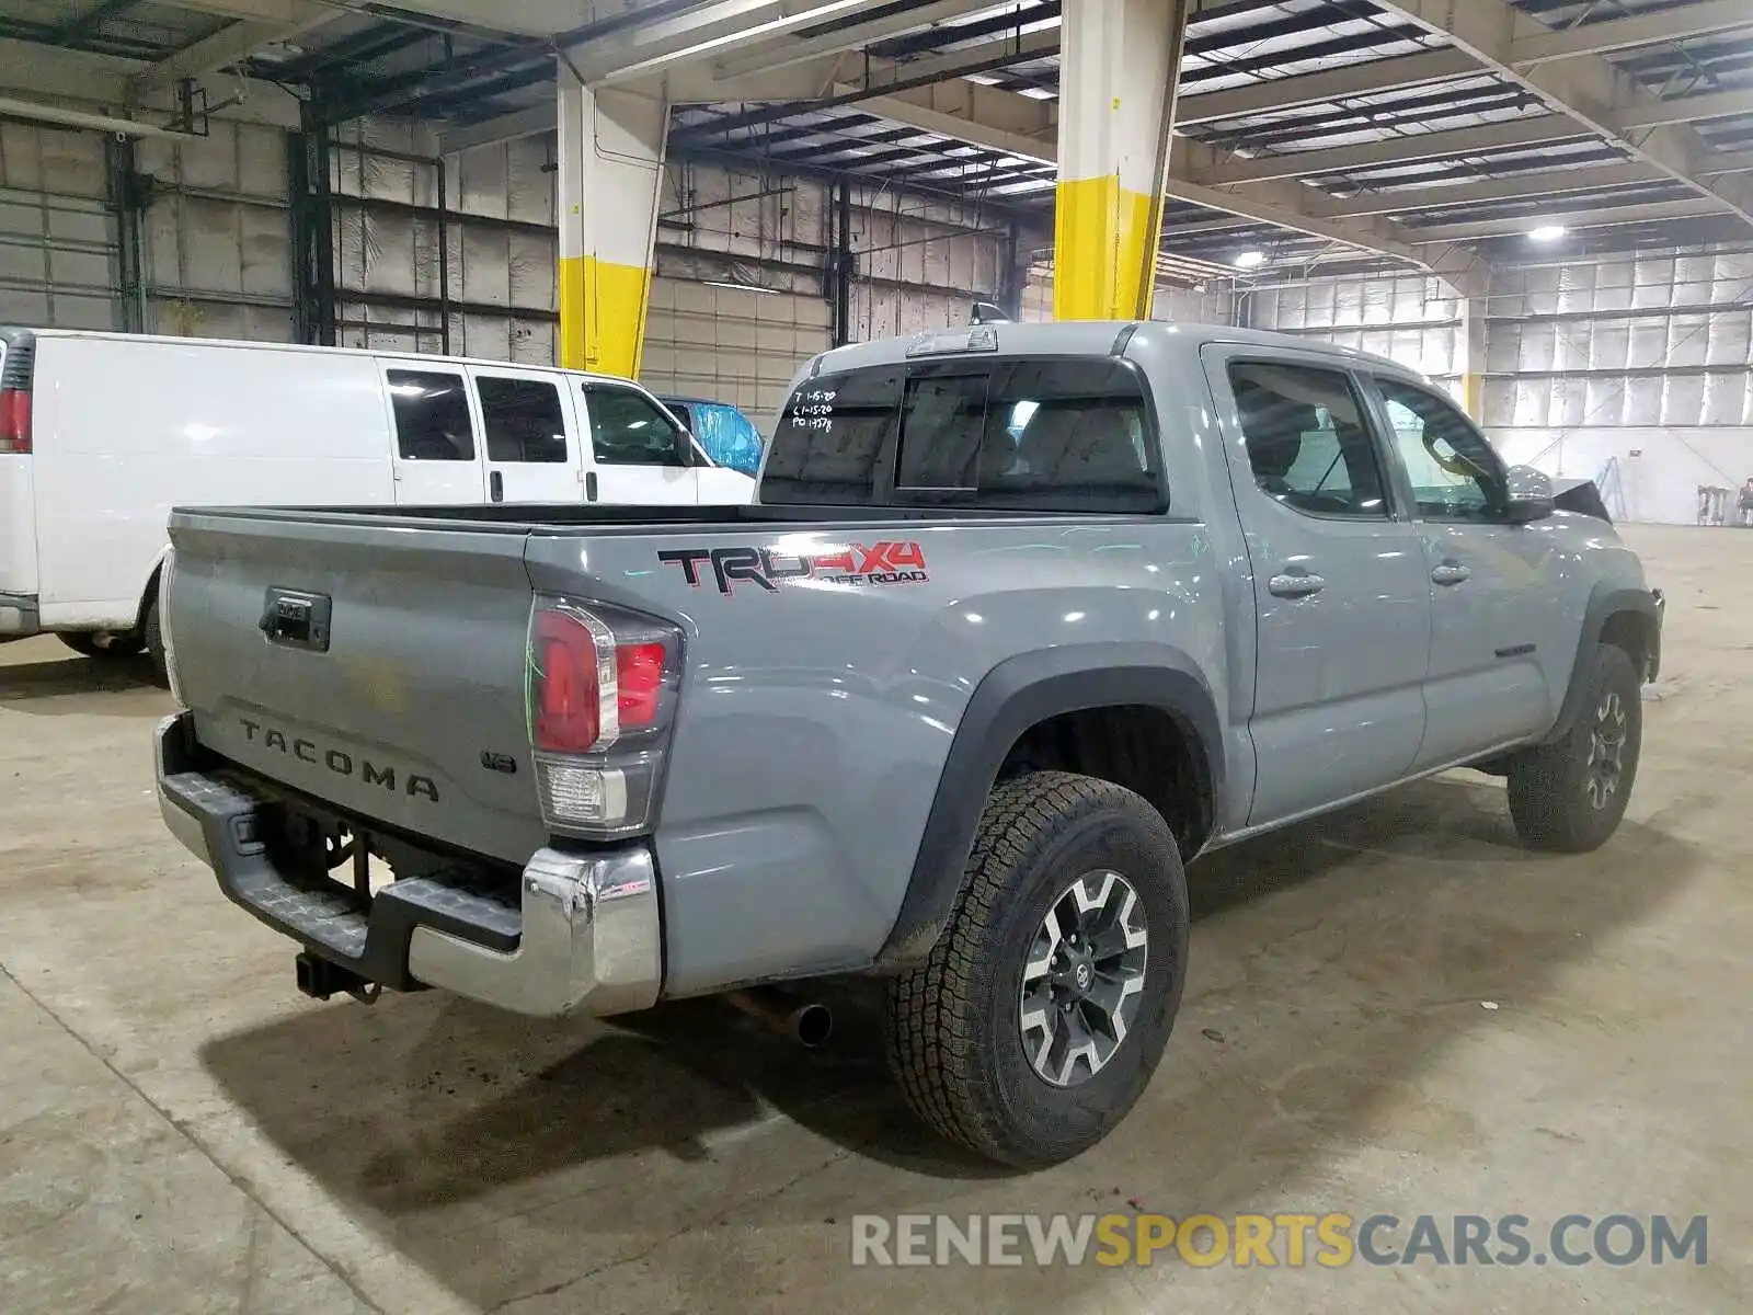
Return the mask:
[[[1078,1085],[1036,1073],[1020,991],[1048,910],[1092,871],[1143,905],[1138,1012],[1111,1059]],[[1162,815],[1132,791],[1036,771],[992,791],[955,910],[927,961],[889,991],[889,1063],[906,1103],[952,1141],[1015,1168],[1059,1164],[1131,1112],[1167,1045],[1187,978],[1187,875]]]

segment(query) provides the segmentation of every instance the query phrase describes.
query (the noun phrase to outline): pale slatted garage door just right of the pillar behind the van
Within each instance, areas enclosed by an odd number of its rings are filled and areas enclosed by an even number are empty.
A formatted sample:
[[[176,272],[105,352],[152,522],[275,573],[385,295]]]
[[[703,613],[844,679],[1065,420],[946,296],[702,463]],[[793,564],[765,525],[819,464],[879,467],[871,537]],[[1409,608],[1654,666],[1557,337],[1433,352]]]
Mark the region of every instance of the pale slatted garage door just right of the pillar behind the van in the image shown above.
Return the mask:
[[[798,366],[833,345],[827,302],[652,279],[640,380],[654,393],[733,402],[761,433]]]

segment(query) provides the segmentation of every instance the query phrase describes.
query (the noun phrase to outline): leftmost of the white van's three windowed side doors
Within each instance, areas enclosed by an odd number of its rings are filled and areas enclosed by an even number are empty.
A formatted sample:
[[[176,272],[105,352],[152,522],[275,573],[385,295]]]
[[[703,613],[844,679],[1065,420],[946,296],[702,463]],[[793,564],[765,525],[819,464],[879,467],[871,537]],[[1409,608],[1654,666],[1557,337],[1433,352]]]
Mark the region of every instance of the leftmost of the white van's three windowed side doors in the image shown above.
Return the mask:
[[[480,503],[487,473],[463,368],[384,358],[396,505]]]

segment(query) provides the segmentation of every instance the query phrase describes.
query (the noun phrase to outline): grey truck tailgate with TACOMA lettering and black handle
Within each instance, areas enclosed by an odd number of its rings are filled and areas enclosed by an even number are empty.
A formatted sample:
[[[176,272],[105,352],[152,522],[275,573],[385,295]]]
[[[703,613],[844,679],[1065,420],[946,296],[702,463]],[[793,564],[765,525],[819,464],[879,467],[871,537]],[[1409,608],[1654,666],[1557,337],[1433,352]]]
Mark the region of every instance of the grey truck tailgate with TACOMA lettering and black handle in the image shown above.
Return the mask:
[[[203,745],[459,849],[522,863],[545,842],[522,528],[177,512],[170,540],[165,619]],[[291,621],[270,640],[277,600]],[[317,619],[303,642],[300,600]]]

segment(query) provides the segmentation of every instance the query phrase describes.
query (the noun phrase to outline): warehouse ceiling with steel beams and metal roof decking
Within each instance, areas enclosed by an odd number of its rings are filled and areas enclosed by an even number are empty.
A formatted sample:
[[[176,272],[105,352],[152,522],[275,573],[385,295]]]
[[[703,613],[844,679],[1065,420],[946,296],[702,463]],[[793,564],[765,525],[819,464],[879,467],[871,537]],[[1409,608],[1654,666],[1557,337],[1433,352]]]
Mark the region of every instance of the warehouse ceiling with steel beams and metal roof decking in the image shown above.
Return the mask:
[[[678,156],[1043,226],[1059,21],[1057,0],[0,0],[0,39],[126,60],[135,88],[235,68],[328,121],[442,121],[452,149],[547,130],[557,58],[663,79]],[[1753,4],[1203,0],[1171,174],[1162,261],[1189,281],[1753,240]]]

